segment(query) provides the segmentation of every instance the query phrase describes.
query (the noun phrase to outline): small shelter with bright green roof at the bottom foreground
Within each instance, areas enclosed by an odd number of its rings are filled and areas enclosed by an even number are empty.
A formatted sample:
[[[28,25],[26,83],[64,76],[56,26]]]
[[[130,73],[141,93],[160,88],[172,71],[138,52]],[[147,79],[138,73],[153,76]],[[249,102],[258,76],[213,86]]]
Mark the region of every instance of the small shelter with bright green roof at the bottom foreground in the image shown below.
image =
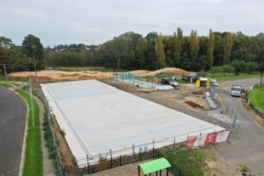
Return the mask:
[[[158,170],[163,170],[167,168],[167,172],[168,172],[168,168],[171,167],[170,163],[168,162],[168,160],[166,160],[165,158],[159,158],[153,161],[149,161],[146,163],[141,163],[139,164],[139,167],[142,168],[144,175],[147,175],[149,173],[152,172],[157,172]],[[140,169],[139,169],[140,171]],[[139,173],[140,175],[140,173]]]

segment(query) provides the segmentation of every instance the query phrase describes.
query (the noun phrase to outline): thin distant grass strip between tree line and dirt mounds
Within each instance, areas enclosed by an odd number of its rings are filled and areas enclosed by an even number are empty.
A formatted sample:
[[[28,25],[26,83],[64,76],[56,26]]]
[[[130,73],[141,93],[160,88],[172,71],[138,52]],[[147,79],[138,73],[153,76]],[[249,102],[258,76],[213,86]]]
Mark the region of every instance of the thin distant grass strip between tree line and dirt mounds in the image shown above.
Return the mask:
[[[63,71],[100,71],[100,72],[113,72],[113,68],[103,68],[103,67],[56,67],[57,70]]]

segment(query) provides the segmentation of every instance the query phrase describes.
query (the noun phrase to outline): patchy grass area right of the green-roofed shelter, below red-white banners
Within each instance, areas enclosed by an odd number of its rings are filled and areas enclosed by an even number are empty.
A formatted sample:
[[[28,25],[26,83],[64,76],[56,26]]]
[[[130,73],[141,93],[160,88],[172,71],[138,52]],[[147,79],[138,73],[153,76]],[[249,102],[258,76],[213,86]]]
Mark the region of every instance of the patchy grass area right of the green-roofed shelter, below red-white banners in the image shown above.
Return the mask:
[[[183,149],[176,155],[171,150],[164,151],[162,154],[170,163],[177,165],[188,175],[205,175],[205,172],[210,173],[206,160],[215,160],[215,156],[209,151],[210,146],[205,146],[201,149]]]

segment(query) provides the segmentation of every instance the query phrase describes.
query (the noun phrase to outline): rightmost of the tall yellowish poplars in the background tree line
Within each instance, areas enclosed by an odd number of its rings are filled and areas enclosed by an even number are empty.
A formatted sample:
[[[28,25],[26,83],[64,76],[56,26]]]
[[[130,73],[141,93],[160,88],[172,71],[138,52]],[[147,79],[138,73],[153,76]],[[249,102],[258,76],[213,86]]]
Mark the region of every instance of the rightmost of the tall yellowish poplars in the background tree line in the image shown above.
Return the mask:
[[[233,45],[232,34],[230,32],[227,32],[227,35],[225,36],[224,39],[224,58],[222,60],[223,64],[230,63],[232,45]]]

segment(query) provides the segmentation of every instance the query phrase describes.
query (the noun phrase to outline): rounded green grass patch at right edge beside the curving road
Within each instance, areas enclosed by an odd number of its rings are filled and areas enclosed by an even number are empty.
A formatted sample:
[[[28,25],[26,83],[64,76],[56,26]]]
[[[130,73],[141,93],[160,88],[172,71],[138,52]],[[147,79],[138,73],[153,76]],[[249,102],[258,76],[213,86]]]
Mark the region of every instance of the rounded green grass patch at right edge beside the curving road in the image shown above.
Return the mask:
[[[256,87],[249,92],[249,100],[260,111],[264,113],[264,86]]]

